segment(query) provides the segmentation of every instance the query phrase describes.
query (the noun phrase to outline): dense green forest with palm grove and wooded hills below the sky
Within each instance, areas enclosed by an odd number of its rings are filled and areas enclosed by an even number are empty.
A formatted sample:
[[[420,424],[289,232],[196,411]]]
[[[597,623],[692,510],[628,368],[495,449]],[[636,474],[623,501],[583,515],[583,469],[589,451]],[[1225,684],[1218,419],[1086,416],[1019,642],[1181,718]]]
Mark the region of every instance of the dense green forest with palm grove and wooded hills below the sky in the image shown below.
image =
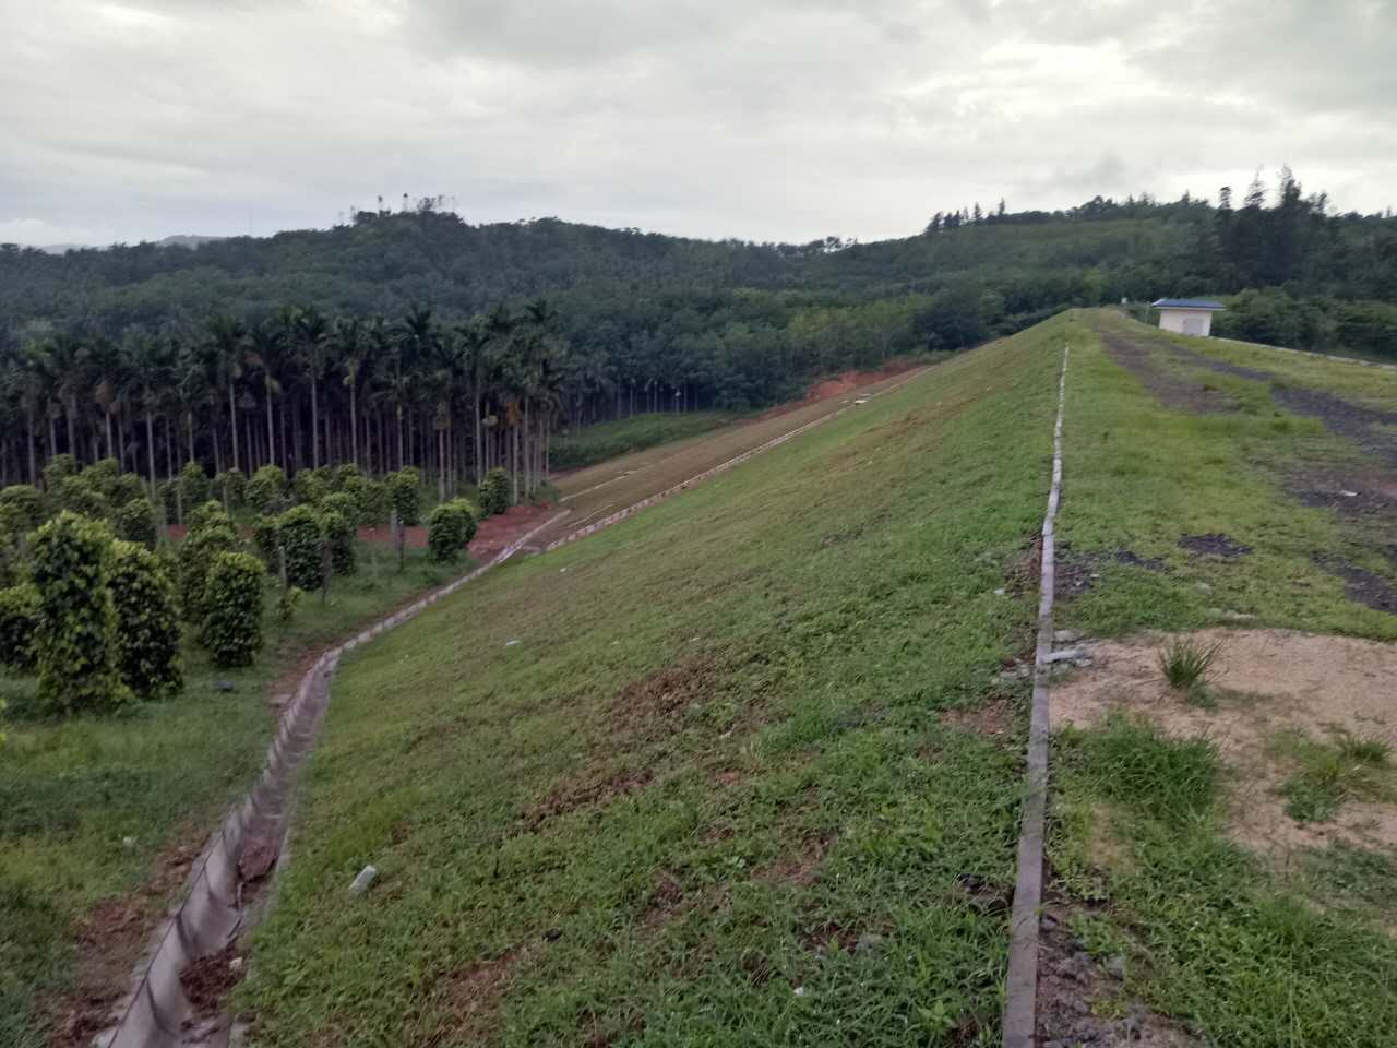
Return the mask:
[[[1069,306],[1220,295],[1218,334],[1397,356],[1397,219],[1282,172],[1239,204],[954,208],[900,240],[707,242],[423,200],[328,231],[0,246],[0,481],[356,463],[546,468],[562,425],[745,409]]]

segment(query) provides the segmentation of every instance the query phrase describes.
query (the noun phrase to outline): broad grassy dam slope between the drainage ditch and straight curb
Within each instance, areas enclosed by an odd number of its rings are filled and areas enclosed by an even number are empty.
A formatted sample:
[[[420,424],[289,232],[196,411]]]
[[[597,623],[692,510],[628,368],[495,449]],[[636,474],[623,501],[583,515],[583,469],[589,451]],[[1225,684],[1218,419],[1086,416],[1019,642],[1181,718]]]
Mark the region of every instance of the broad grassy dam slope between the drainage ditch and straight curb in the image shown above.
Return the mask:
[[[1083,337],[937,366],[355,653],[254,1042],[995,1042],[1021,710],[940,714],[1030,644],[1032,588],[995,590]]]

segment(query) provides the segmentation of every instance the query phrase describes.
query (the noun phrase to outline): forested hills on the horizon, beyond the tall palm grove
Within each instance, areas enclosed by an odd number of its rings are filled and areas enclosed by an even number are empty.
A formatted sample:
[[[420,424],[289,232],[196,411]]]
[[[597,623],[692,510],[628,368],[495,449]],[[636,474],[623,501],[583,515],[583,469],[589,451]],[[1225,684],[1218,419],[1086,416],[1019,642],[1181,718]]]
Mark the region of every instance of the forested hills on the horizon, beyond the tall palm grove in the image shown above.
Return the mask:
[[[191,250],[163,250],[173,246]],[[851,356],[840,349],[849,340],[872,342],[865,356],[957,348],[1067,306],[1162,295],[1238,296],[1224,334],[1397,354],[1397,219],[1327,215],[1323,197],[1302,197],[1292,180],[1271,205],[1256,191],[1236,210],[1187,197],[977,208],[866,245],[698,240],[556,218],[469,225],[426,210],[358,212],[270,238],[183,235],[61,256],[0,249],[0,324],[11,340],[35,321],[115,337],[130,326],[200,327],[214,312],[256,321],[284,305],[395,316],[423,303],[455,321],[541,295],[574,341],[658,340],[679,355],[733,324],[828,341],[816,355],[831,363]],[[788,331],[799,310],[817,314],[805,335]]]

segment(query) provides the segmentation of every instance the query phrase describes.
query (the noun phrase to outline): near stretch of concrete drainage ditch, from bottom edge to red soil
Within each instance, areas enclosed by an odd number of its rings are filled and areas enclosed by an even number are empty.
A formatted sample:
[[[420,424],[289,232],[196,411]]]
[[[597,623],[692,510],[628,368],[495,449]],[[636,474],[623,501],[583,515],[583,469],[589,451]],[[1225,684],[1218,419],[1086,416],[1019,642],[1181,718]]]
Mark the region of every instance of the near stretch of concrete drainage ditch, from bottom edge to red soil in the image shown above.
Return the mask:
[[[204,1033],[187,1028],[193,1006],[184,995],[180,974],[194,961],[231,942],[243,921],[239,861],[253,845],[275,845],[288,829],[296,773],[314,746],[321,717],[330,701],[330,678],[339,658],[380,633],[400,626],[429,606],[450,597],[467,583],[509,560],[531,538],[567,516],[550,517],[514,539],[492,560],[469,574],[447,583],[344,644],[324,651],[306,671],[296,694],[281,717],[277,736],[267,750],[261,774],[243,801],[235,805],[214,831],[190,875],[176,910],[156,931],[147,954],[133,974],[133,988],[115,1013],[115,1026],[96,1040],[102,1048],[163,1048],[203,1040]],[[101,946],[99,946],[101,949]]]

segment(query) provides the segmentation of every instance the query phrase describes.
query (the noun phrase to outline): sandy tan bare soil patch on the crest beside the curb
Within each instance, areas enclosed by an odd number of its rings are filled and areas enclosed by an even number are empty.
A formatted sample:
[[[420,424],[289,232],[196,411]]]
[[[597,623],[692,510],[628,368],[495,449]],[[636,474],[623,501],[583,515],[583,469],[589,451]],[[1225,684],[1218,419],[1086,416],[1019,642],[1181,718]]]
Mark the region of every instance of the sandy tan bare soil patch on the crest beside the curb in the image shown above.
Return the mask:
[[[1215,708],[1190,706],[1169,689],[1158,665],[1166,637],[1144,634],[1091,646],[1094,664],[1051,692],[1053,727],[1085,728],[1123,710],[1168,735],[1211,739],[1234,771],[1231,834],[1273,858],[1333,840],[1397,847],[1397,805],[1350,799],[1331,822],[1295,822],[1277,792],[1295,769],[1273,745],[1288,731],[1320,742],[1338,731],[1397,741],[1397,644],[1264,629],[1189,636],[1222,644],[1210,681]]]

